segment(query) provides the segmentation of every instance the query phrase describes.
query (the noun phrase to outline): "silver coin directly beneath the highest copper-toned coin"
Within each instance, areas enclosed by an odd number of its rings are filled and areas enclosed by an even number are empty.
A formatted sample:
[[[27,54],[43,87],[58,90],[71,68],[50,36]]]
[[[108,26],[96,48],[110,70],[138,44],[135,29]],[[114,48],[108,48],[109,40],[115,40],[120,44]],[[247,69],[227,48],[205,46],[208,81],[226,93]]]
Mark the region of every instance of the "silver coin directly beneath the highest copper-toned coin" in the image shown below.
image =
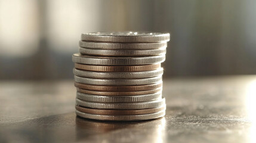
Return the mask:
[[[136,72],[100,72],[73,69],[73,74],[81,77],[89,77],[96,79],[143,79],[147,77],[161,76],[163,68],[149,71],[136,71]]]

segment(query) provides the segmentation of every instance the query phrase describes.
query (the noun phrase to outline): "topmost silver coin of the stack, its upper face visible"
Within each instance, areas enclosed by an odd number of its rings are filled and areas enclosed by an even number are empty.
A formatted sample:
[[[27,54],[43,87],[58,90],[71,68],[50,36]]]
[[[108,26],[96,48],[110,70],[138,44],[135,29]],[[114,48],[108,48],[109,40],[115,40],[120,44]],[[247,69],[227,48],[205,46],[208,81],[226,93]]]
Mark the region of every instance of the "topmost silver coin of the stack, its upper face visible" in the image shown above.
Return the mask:
[[[169,33],[150,33],[150,32],[95,32],[82,33],[82,41],[96,42],[134,42],[134,43],[151,43],[151,42],[168,42]]]

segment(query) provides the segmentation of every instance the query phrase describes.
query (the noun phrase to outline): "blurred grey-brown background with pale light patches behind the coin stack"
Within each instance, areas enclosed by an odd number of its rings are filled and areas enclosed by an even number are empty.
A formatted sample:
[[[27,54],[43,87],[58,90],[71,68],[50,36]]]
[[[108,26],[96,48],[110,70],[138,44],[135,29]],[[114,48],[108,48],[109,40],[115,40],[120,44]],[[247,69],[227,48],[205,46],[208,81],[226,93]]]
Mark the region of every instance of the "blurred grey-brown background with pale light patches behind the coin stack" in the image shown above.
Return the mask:
[[[256,1],[0,0],[0,79],[72,79],[81,33],[171,33],[164,77],[256,73]]]

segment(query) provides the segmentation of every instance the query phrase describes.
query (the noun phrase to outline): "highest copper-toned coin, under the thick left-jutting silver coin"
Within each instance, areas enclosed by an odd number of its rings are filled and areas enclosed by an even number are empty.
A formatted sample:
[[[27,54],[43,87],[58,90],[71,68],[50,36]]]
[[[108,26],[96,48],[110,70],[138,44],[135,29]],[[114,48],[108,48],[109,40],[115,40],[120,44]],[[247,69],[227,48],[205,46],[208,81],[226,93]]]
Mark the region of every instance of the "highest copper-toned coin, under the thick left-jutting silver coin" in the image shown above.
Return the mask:
[[[143,66],[93,66],[88,64],[75,63],[76,69],[91,71],[112,71],[112,72],[130,72],[130,71],[148,71],[161,67],[161,63],[149,64]]]

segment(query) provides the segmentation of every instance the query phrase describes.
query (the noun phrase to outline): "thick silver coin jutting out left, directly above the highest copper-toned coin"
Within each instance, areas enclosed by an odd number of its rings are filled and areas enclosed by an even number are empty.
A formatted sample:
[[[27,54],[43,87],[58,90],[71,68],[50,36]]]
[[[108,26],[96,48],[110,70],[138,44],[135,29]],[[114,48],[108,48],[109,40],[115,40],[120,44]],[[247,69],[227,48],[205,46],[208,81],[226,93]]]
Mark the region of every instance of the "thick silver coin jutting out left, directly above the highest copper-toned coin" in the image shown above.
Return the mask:
[[[154,55],[146,57],[100,57],[82,54],[73,54],[72,61],[80,64],[92,65],[143,65],[143,64],[156,64],[165,61],[165,54]]]

